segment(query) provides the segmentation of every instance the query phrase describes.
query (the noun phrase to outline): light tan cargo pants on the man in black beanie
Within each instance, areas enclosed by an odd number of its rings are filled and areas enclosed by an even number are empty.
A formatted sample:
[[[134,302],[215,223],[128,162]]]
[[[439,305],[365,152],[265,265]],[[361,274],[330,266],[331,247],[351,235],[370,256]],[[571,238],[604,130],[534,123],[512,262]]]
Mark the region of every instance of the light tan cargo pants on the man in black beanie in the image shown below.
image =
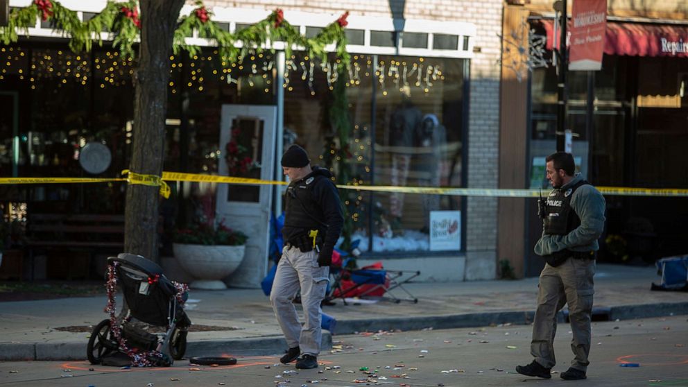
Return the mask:
[[[282,259],[277,264],[273,289],[270,291],[270,303],[286,343],[290,348],[300,347],[301,354],[318,356],[320,353],[320,302],[325,298],[328,278],[329,266],[318,266],[318,253],[315,250],[301,252],[294,246],[282,250]],[[293,304],[299,288],[303,326]]]

